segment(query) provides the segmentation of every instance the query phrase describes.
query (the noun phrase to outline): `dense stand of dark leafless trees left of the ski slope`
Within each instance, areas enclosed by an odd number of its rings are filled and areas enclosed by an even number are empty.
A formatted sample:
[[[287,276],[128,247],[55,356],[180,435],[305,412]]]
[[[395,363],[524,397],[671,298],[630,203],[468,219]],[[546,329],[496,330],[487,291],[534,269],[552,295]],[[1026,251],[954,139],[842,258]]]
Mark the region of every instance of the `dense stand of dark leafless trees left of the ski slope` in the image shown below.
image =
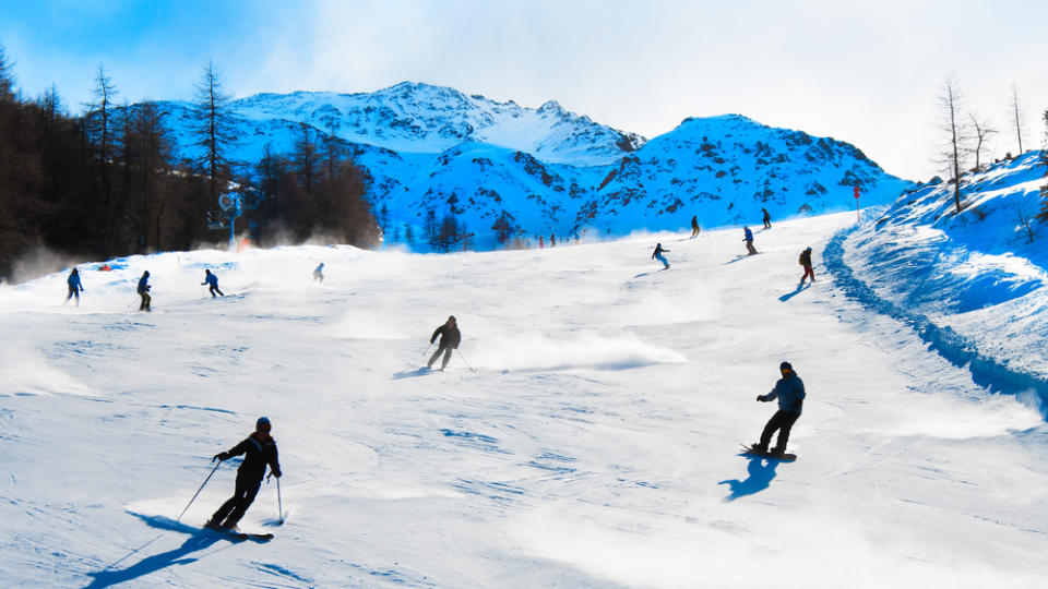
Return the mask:
[[[193,147],[202,155],[179,158],[168,113],[153,100],[120,101],[104,67],[92,101],[70,115],[53,85],[23,96],[0,46],[0,279],[11,280],[19,260],[40,247],[106,260],[224,241],[228,229],[215,232],[207,218],[230,190],[242,193],[245,227],[259,243],[318,233],[377,241],[369,178],[333,135],[303,127],[291,154],[236,161],[235,113],[212,63],[195,89]]]

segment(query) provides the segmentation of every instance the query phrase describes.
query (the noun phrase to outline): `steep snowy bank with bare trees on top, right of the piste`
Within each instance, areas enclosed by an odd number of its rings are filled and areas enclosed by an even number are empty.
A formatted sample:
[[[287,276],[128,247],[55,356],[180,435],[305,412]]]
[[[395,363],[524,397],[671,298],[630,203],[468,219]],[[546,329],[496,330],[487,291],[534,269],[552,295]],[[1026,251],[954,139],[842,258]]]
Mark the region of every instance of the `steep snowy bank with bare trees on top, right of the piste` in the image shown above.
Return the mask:
[[[849,265],[879,297],[963,336],[964,346],[1046,383],[1048,224],[1040,152],[903,195],[844,242]],[[1021,223],[1028,219],[1029,227]],[[1034,239],[1031,240],[1031,232]]]

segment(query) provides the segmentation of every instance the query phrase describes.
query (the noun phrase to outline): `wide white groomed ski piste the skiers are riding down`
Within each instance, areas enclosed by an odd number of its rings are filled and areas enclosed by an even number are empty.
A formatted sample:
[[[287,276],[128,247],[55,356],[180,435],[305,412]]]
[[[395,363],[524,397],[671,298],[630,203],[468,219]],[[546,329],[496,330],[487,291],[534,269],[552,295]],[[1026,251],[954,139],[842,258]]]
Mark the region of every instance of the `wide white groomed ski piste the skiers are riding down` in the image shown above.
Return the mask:
[[[1043,414],[847,299],[819,253],[850,223],[776,224],[749,257],[731,229],[136,256],[80,266],[80,308],[64,274],[0,288],[0,585],[1044,587]],[[415,372],[449,314],[462,353]],[[783,360],[799,458],[740,456]],[[284,522],[274,480],[240,527],[275,539],[199,531],[236,460],[176,524],[263,414]]]

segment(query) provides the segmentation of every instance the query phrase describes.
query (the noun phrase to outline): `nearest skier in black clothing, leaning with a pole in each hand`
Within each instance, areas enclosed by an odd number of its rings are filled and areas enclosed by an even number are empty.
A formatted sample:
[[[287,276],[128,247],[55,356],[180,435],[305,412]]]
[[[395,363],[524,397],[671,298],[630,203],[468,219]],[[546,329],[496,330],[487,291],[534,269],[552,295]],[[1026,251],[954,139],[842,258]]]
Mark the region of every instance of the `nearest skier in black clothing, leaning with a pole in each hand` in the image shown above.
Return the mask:
[[[235,530],[237,522],[243,517],[243,514],[251,506],[254,496],[262,486],[262,478],[265,477],[265,466],[270,466],[271,473],[277,479],[281,478],[281,464],[277,460],[276,441],[270,436],[273,425],[269,418],[259,418],[254,423],[254,432],[240,442],[233,449],[222,452],[211,459],[228,460],[234,456],[243,454],[243,461],[237,469],[237,483],[233,496],[229,497],[211,519],[204,524],[204,527],[222,530]]]

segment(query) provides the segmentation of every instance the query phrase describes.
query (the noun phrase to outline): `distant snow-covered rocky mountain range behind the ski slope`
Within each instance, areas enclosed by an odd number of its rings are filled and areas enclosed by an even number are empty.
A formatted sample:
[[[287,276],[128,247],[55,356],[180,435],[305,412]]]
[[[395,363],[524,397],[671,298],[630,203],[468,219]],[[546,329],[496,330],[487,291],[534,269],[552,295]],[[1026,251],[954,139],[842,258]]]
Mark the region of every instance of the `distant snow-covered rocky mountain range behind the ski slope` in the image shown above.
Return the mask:
[[[388,241],[420,236],[433,211],[454,214],[473,248],[497,247],[491,225],[508,218],[522,238],[624,236],[678,229],[698,215],[707,227],[886,203],[909,185],[860,151],[831,139],[772,129],[745,117],[689,119],[645,143],[550,101],[537,109],[426,84],[370,94],[261,94],[231,105],[241,141],[236,158],[266,146],[289,154],[302,125],[314,141],[344,142],[385,206]],[[190,105],[167,103],[183,155],[195,154]],[[398,237],[400,236],[400,237]],[[409,244],[426,249],[415,240]]]

